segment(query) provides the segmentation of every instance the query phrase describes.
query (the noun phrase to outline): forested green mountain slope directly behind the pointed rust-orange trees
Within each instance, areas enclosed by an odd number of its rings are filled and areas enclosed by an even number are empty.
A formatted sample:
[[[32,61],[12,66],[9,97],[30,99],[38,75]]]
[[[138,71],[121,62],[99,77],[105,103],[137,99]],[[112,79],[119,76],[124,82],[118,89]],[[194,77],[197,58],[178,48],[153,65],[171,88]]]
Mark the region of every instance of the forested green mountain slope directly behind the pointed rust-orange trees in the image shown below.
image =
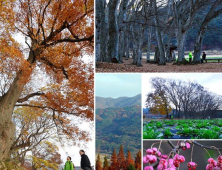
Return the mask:
[[[141,105],[96,109],[97,153],[111,154],[120,144],[134,156],[141,148]]]

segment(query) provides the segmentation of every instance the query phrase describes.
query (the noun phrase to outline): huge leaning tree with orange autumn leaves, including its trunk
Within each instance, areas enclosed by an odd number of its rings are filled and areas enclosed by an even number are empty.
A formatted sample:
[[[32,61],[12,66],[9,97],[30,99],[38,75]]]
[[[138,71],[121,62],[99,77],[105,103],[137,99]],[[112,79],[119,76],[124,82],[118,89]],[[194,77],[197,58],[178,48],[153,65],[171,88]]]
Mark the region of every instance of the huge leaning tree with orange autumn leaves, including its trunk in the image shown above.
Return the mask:
[[[93,5],[93,0],[1,1],[0,161],[14,142],[16,107],[43,109],[58,135],[88,139],[71,119],[94,117],[92,64],[81,57],[93,53]]]

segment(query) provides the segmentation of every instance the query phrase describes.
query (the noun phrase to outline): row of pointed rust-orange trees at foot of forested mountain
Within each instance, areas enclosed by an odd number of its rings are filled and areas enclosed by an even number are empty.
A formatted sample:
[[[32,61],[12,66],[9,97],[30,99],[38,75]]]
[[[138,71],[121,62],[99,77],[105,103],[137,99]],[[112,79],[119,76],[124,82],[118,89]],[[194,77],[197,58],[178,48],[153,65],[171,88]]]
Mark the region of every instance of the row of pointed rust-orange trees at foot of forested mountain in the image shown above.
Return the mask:
[[[141,170],[141,151],[136,154],[133,160],[131,152],[128,150],[127,157],[124,156],[123,146],[120,145],[119,153],[116,155],[116,149],[113,150],[110,165],[107,157],[104,157],[104,162],[100,160],[100,154],[96,159],[96,170]]]

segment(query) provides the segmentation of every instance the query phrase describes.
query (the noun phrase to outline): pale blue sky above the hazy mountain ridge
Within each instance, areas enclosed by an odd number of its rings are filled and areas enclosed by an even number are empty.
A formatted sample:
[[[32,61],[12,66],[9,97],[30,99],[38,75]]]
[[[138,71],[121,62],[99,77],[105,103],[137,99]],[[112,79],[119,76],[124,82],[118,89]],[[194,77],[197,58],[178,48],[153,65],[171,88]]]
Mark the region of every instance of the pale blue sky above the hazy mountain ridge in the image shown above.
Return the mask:
[[[141,74],[96,74],[95,94],[99,97],[133,97],[141,94]]]

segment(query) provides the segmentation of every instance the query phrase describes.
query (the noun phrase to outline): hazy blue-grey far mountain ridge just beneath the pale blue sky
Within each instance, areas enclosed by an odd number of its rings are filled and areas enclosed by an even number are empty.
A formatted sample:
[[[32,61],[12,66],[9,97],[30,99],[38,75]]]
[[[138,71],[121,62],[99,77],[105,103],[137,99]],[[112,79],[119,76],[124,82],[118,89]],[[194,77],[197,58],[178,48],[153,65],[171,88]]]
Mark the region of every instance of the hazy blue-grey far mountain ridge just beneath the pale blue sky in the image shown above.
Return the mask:
[[[134,97],[119,97],[117,99],[96,97],[96,109],[126,107],[133,105],[141,105],[141,94]]]

